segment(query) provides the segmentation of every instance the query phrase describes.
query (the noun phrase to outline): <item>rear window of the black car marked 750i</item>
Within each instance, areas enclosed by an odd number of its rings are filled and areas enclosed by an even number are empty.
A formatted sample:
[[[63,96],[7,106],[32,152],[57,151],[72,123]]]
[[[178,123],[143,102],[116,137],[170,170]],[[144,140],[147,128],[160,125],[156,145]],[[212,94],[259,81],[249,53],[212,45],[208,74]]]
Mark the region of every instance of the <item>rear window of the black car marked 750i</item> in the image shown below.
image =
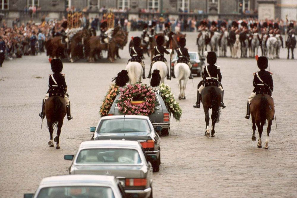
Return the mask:
[[[149,123],[145,119],[110,119],[103,120],[97,133],[114,132],[150,132]]]

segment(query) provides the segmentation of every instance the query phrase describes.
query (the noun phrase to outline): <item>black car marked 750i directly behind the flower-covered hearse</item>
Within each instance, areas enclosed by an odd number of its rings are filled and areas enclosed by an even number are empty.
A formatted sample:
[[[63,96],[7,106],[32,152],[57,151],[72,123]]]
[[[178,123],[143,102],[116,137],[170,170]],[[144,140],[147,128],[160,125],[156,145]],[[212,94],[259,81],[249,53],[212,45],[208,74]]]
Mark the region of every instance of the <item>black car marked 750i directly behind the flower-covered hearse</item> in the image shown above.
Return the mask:
[[[162,127],[157,126],[156,131]],[[148,116],[114,115],[102,117],[97,127],[91,127],[94,140],[132,140],[140,142],[155,172],[161,164],[160,137]]]

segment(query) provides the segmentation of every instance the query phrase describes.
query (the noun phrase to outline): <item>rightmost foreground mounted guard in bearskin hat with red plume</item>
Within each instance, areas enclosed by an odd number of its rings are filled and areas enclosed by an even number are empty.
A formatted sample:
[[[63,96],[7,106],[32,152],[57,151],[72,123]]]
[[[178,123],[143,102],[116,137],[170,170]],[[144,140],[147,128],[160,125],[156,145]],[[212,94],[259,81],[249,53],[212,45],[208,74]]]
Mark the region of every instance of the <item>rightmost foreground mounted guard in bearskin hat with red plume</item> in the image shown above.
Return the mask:
[[[265,56],[256,56],[257,59],[257,65],[260,69],[260,71],[253,73],[254,80],[253,80],[253,86],[255,87],[252,91],[252,94],[249,96],[248,102],[247,102],[247,115],[244,117],[249,119],[249,107],[252,102],[252,99],[257,94],[268,94],[269,96],[272,96],[273,91],[273,81],[272,81],[272,73],[266,71],[268,67],[268,60]]]

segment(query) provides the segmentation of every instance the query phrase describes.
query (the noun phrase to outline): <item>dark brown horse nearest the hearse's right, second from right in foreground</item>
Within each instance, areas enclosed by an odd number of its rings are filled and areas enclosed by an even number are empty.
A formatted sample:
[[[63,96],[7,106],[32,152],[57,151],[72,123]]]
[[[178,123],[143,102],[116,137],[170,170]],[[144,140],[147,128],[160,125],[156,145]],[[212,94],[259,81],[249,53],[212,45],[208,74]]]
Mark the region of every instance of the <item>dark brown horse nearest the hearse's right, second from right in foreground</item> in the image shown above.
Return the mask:
[[[203,110],[205,114],[205,133],[206,137],[210,136],[209,131],[211,131],[211,137],[214,137],[215,130],[214,125],[219,122],[221,115],[220,104],[222,98],[222,91],[217,86],[207,86],[201,91],[201,99],[203,104]],[[211,113],[211,128],[209,129],[209,109],[212,109]]]

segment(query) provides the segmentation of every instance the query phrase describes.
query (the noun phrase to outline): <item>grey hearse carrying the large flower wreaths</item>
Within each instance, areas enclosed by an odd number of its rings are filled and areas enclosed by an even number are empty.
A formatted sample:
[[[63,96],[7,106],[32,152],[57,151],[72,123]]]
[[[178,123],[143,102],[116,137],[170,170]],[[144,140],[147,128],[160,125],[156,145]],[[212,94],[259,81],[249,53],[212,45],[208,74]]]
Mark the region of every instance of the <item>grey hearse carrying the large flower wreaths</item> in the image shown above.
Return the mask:
[[[170,112],[168,111],[162,96],[160,96],[158,93],[156,93],[156,96],[157,104],[155,106],[155,112],[148,116],[151,119],[154,128],[156,128],[156,126],[162,127],[162,131],[160,132],[161,135],[168,135],[170,129]],[[116,99],[110,107],[108,115],[121,115],[116,102],[119,97],[120,95],[116,96]]]

